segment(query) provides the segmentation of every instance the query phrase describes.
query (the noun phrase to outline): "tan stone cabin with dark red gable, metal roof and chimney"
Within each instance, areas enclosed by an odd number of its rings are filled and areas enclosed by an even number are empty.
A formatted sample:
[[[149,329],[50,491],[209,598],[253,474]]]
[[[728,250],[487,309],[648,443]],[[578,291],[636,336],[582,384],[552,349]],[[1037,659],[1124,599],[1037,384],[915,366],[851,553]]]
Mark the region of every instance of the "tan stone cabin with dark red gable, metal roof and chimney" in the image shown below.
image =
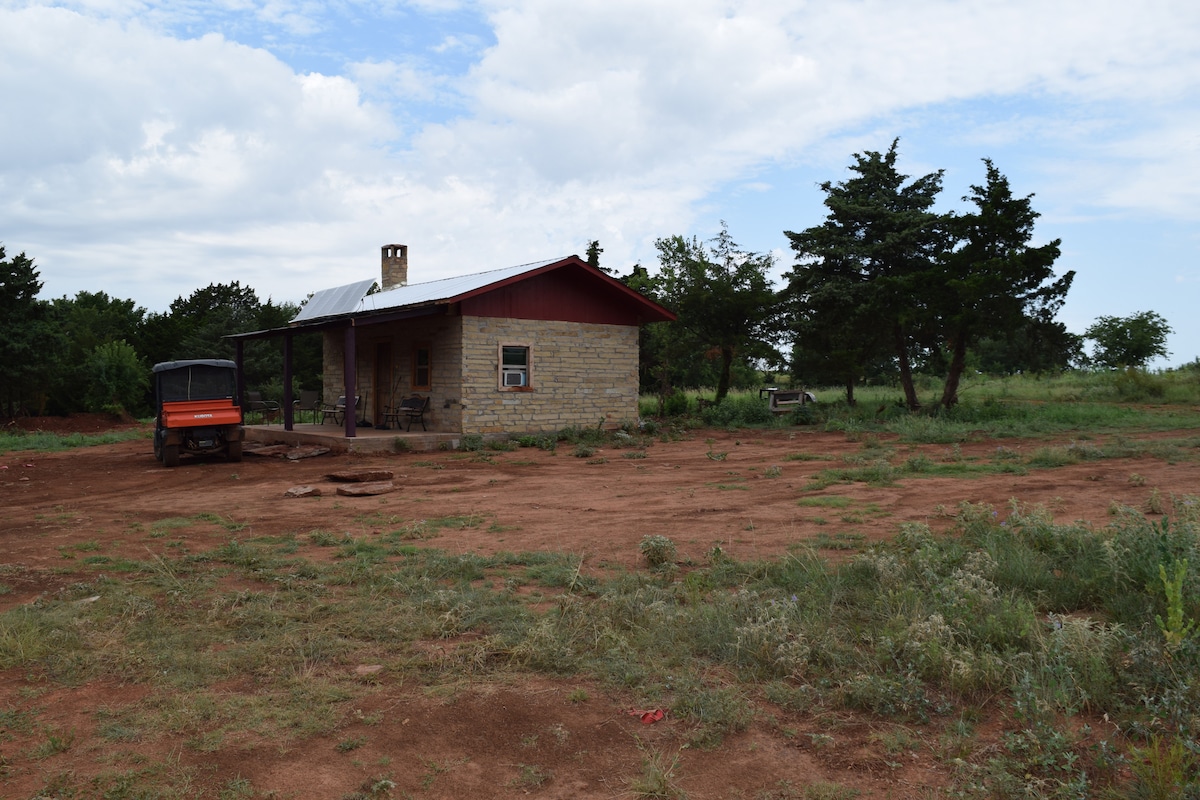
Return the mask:
[[[431,432],[619,427],[637,419],[638,327],[674,319],[577,255],[409,283],[408,247],[384,245],[380,285],[318,291],[282,331],[322,331],[323,402],[362,403],[347,437],[412,393],[431,398]]]

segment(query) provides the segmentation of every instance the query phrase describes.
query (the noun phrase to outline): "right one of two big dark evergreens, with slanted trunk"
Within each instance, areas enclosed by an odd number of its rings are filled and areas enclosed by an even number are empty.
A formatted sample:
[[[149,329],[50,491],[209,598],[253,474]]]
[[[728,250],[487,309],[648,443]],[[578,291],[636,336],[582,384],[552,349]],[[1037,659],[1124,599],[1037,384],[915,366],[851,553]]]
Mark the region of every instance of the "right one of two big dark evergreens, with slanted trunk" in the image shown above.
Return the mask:
[[[946,218],[955,247],[930,272],[924,297],[937,318],[940,339],[949,351],[941,405],[959,402],[959,384],[966,368],[967,349],[980,337],[997,331],[1028,327],[1030,320],[1051,323],[1075,277],[1055,279],[1061,240],[1032,247],[1038,213],[1031,197],[1013,197],[1008,179],[990,160],[986,182],[972,186],[962,198],[976,210]]]

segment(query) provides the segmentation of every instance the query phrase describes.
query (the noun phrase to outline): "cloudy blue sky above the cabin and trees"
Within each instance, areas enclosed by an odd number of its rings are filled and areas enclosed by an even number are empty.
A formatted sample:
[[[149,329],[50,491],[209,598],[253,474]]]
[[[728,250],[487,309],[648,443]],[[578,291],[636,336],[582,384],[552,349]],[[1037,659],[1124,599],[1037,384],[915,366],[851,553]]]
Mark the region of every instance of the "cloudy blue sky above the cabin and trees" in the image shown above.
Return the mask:
[[[299,302],[654,240],[791,266],[818,184],[900,138],[942,207],[991,158],[1062,239],[1060,319],[1200,356],[1192,0],[0,0],[0,242],[43,297]]]

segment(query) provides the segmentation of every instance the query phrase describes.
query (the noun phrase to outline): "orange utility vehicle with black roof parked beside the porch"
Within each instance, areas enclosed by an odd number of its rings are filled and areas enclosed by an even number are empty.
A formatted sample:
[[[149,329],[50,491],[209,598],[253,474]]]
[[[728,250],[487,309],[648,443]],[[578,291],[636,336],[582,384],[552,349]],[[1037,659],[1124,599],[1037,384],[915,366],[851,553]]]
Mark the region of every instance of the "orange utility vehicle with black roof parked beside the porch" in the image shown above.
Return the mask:
[[[154,366],[154,455],[163,467],[178,467],[181,452],[241,461],[238,365],[224,359],[163,361]]]

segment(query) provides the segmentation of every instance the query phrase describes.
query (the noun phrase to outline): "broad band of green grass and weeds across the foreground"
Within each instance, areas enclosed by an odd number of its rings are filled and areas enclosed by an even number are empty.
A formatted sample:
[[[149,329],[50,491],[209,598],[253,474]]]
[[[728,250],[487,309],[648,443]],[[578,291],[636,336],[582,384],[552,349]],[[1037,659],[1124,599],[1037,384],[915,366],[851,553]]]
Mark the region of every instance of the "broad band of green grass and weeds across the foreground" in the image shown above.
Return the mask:
[[[797,548],[607,577],[581,576],[571,555],[367,545],[341,541],[330,560],[318,542],[230,540],[97,572],[0,614],[0,668],[142,684],[145,702],[106,710],[103,729],[200,750],[235,730],[328,735],[365,691],[344,666],[370,658],[418,684],[589,678],[668,709],[701,748],[764,709],[950,726],[998,705],[1002,750],[948,756],[965,796],[1097,796],[1195,775],[1194,515],[1124,510],[1094,529],[964,505],[948,534],[908,523],[841,564]],[[252,694],[228,691],[246,676]],[[1099,717],[1120,738],[1085,746],[1084,720]],[[1122,778],[1130,745],[1159,771]]]

